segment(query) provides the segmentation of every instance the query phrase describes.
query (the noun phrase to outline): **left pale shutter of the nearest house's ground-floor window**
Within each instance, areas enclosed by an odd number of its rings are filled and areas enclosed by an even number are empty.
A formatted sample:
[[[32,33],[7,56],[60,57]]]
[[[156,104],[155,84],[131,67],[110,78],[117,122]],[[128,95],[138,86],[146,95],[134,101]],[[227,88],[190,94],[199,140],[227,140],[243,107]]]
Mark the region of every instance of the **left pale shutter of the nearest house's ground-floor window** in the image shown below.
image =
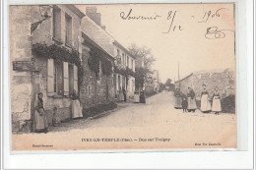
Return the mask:
[[[49,96],[54,94],[54,61],[53,59],[48,59],[47,62],[47,93]]]

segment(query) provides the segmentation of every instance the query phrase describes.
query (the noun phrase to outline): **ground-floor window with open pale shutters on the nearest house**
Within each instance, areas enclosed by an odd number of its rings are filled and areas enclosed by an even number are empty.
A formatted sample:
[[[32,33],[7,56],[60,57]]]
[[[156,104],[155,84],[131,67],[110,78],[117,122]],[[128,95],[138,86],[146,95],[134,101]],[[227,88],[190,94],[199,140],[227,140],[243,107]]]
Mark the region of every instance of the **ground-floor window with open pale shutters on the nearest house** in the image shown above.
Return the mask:
[[[47,93],[49,96],[66,95],[78,91],[78,68],[67,62],[48,59]]]

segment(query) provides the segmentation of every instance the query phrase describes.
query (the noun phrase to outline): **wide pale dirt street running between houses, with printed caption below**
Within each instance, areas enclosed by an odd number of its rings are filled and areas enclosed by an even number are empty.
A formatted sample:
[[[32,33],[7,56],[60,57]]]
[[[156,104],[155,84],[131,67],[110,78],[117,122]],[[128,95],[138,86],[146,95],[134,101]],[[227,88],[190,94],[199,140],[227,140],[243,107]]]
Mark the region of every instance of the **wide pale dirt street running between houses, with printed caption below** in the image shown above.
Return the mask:
[[[200,110],[196,110],[195,113],[183,113],[182,110],[174,109],[173,103],[173,93],[168,91],[147,98],[146,104],[118,103],[116,109],[96,118],[73,120],[63,123],[61,127],[51,127],[48,134],[13,135],[13,140],[17,141],[13,147],[18,150],[20,148],[110,149],[131,146],[135,148],[211,148],[226,145],[235,147],[235,114],[203,114]],[[48,146],[38,146],[41,144]]]

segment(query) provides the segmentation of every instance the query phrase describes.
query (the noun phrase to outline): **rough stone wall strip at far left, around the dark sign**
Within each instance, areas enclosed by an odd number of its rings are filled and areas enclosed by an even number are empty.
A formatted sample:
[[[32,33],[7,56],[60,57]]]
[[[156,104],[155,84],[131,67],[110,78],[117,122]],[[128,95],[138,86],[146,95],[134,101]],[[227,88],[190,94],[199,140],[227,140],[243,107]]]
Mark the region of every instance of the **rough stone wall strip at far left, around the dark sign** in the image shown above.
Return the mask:
[[[9,12],[12,131],[19,131],[32,116],[32,72],[14,71],[13,61],[32,61],[32,8],[10,6]]]

